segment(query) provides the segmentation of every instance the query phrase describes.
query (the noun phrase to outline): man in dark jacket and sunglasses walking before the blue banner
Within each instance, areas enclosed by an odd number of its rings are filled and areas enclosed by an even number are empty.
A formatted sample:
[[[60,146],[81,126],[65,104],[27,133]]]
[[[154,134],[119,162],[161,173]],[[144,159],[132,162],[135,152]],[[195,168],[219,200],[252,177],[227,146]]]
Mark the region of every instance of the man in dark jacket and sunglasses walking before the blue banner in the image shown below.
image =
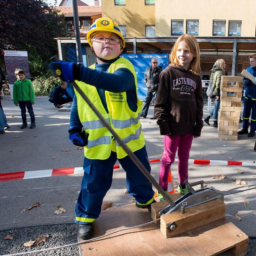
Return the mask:
[[[148,87],[148,91],[146,93],[145,105],[141,111],[140,116],[146,118],[148,115],[148,108],[153,97],[156,99],[156,94],[158,90],[159,84],[159,75],[162,71],[161,68],[157,67],[157,59],[151,59],[151,67],[146,69],[144,83]],[[150,117],[150,119],[156,119],[155,115]]]

